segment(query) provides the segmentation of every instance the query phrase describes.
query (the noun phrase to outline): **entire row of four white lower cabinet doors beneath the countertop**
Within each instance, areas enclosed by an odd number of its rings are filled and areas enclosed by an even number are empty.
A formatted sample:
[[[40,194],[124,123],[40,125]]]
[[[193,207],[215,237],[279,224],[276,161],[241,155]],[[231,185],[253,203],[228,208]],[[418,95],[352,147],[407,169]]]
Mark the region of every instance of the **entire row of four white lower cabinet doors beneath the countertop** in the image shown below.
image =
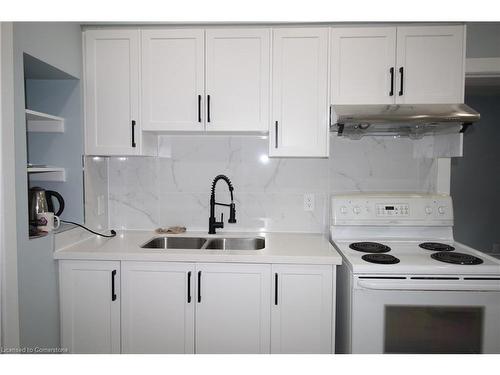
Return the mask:
[[[62,346],[332,353],[334,273],[330,265],[60,261]]]

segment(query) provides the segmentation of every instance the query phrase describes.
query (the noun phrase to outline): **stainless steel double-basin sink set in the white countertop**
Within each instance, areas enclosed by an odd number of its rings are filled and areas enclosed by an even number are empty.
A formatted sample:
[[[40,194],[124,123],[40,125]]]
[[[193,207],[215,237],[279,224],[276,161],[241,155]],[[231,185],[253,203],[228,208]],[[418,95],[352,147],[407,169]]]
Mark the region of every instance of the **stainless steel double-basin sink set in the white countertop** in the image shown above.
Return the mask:
[[[266,246],[263,237],[155,237],[143,249],[199,249],[199,250],[261,250]]]

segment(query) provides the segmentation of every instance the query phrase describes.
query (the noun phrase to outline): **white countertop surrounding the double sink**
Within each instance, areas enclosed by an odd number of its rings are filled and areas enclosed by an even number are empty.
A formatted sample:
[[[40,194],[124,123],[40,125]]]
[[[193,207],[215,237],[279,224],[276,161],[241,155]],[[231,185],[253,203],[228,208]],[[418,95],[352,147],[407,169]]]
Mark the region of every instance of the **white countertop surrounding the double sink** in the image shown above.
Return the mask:
[[[78,229],[74,229],[78,231]],[[72,232],[72,231],[70,231]],[[66,232],[67,233],[67,232]],[[262,250],[183,250],[142,249],[154,237],[153,231],[118,231],[114,238],[82,236],[75,232],[75,241],[56,240],[55,259],[131,260],[168,262],[230,262],[230,263],[297,263],[339,265],[341,256],[323,234],[313,233],[218,233],[186,232],[169,237],[264,237]]]

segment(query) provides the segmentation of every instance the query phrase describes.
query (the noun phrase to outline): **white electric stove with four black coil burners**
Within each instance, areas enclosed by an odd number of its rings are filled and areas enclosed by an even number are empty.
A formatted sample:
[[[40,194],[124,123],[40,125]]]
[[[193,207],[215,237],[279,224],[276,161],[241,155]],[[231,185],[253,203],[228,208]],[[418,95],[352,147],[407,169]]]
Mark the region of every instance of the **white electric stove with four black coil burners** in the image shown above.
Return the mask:
[[[447,195],[332,197],[339,353],[500,353],[500,261],[453,239]]]

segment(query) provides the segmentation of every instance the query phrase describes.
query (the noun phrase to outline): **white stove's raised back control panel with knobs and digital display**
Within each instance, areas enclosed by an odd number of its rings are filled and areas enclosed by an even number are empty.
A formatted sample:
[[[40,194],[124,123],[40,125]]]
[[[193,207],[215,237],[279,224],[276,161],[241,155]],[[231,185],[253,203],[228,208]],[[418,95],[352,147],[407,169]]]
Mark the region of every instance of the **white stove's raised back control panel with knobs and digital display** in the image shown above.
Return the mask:
[[[453,205],[448,195],[336,195],[332,225],[450,226]]]

